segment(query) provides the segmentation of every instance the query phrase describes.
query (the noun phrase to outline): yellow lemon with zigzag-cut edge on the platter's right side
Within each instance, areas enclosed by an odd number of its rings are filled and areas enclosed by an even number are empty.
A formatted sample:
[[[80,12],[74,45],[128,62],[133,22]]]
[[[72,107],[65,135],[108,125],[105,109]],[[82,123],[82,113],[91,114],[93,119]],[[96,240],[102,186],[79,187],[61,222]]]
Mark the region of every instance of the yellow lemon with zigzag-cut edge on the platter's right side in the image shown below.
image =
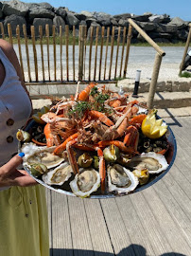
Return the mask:
[[[156,110],[151,111],[143,120],[141,130],[146,137],[159,138],[165,135],[167,125],[163,125],[163,119],[156,119]]]

